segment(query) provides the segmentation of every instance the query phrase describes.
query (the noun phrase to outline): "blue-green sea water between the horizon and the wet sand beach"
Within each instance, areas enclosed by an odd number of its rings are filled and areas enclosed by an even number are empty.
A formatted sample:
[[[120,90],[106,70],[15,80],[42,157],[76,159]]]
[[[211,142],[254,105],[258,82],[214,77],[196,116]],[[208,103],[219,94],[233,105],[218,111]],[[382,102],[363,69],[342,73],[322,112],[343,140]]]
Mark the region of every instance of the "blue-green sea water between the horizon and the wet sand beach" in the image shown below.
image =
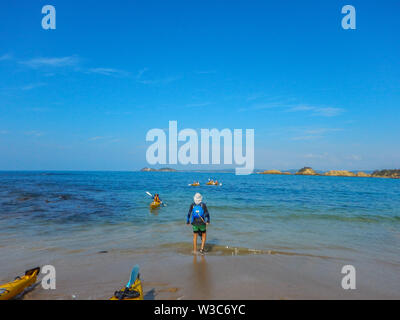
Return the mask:
[[[206,186],[208,178],[222,186]],[[202,186],[188,186],[195,180]],[[151,211],[146,191],[167,206]],[[189,255],[195,192],[211,216],[210,255],[302,255],[400,271],[400,180],[231,173],[1,172],[2,258]]]

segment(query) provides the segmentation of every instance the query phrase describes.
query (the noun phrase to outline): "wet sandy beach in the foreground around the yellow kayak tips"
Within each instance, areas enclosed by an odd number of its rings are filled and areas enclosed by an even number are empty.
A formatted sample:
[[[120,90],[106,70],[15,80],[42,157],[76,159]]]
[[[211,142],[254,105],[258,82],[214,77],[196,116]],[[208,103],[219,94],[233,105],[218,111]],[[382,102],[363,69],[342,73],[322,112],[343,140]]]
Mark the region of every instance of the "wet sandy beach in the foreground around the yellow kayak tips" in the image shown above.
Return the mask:
[[[351,262],[281,254],[70,253],[46,261],[56,267],[56,290],[38,285],[23,298],[108,299],[126,283],[136,263],[141,267],[145,299],[400,298],[396,275],[368,266],[357,267],[356,290],[343,290],[340,271]],[[22,271],[7,273],[14,277]]]

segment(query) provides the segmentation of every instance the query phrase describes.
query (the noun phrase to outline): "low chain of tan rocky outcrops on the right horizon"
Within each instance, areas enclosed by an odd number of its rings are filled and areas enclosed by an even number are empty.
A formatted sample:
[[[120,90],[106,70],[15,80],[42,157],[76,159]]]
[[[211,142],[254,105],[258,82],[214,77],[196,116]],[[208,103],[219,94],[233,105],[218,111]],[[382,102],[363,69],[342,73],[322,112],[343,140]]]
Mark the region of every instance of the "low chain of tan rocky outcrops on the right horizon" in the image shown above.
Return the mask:
[[[279,170],[265,170],[258,172],[258,174],[292,174],[290,172],[281,172]],[[303,176],[332,176],[332,177],[371,177],[371,178],[392,178],[400,179],[400,169],[384,169],[375,170],[371,174],[365,173],[363,171],[352,172],[347,170],[330,170],[325,173],[317,173],[311,167],[301,168],[299,171],[294,173],[294,175]]]

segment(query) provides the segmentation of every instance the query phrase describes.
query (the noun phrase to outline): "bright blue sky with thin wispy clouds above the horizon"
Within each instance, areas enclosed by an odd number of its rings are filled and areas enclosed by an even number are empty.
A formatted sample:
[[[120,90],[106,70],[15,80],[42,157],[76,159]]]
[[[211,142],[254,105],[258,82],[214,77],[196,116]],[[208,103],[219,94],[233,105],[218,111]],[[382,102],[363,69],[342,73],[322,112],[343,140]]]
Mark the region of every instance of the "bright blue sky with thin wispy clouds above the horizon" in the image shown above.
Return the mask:
[[[400,167],[399,16],[394,0],[1,1],[0,169],[140,169],[169,120],[254,128],[256,168]]]

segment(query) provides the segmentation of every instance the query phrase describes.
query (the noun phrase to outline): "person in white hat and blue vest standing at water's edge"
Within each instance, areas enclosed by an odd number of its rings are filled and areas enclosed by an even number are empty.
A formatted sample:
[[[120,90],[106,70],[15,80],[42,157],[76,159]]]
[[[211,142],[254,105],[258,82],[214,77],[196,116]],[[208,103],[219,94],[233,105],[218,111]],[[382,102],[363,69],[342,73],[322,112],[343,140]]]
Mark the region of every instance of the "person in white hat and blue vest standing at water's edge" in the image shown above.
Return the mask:
[[[190,205],[186,219],[186,224],[193,227],[193,252],[197,252],[197,236],[201,237],[200,253],[204,253],[204,245],[206,244],[207,225],[210,223],[210,214],[203,197],[200,193],[196,193],[193,197],[194,203]]]

